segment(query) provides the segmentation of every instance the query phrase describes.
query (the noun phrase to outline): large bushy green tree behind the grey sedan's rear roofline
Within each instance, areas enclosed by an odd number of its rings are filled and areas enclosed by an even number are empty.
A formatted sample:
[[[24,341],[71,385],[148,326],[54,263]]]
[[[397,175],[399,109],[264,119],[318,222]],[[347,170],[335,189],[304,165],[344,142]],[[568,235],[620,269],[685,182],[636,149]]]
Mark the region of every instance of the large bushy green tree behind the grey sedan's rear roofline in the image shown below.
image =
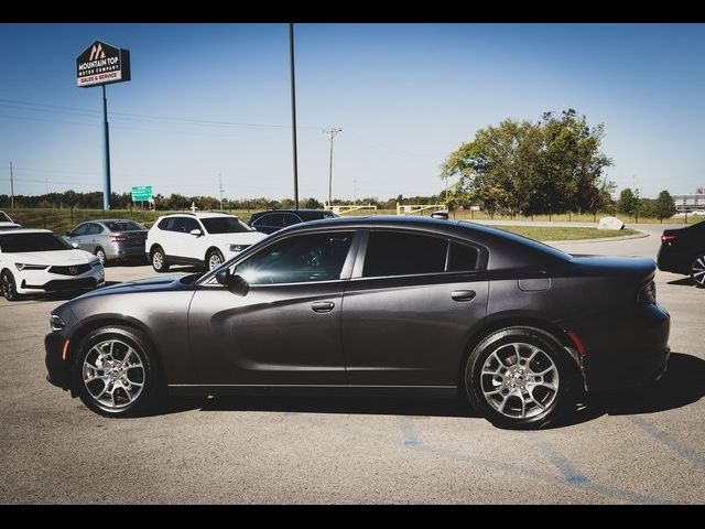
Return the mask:
[[[604,127],[590,128],[573,109],[544,112],[538,122],[505,119],[476,132],[442,165],[443,179],[459,176],[448,193],[510,214],[594,212],[611,183],[600,151]]]

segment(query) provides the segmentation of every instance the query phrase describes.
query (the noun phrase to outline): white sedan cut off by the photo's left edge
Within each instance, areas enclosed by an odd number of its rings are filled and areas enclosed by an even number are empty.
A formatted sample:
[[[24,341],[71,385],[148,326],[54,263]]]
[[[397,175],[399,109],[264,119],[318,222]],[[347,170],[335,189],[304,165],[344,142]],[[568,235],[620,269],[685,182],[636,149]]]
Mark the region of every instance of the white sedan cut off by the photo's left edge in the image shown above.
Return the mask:
[[[105,270],[96,256],[73,248],[48,229],[0,231],[0,288],[8,301],[104,283]]]

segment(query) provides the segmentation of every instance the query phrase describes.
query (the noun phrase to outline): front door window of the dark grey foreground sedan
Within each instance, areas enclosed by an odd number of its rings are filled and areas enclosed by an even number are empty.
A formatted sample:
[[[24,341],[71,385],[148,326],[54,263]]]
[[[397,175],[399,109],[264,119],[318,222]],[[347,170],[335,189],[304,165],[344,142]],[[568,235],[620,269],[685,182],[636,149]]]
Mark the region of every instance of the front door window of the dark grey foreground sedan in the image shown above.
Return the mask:
[[[340,279],[352,236],[352,231],[340,231],[289,237],[238,264],[235,273],[250,284]]]

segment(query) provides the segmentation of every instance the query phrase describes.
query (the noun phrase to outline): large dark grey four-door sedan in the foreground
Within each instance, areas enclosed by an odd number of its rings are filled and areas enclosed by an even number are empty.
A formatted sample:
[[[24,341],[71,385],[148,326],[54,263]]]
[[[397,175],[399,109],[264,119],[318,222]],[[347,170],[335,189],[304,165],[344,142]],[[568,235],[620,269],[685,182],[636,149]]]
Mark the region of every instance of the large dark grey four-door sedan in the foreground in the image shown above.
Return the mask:
[[[429,217],[283,229],[204,274],[55,309],[52,384],[124,415],[173,395],[462,395],[536,427],[581,390],[636,386],[669,358],[652,259],[573,257]]]

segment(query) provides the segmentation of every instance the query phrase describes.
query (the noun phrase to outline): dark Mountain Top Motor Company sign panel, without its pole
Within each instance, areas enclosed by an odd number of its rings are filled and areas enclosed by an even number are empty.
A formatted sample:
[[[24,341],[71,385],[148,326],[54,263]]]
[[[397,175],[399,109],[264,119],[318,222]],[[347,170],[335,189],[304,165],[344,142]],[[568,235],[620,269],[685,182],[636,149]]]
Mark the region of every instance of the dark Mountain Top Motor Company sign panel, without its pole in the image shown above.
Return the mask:
[[[82,88],[130,80],[130,52],[96,41],[76,58],[76,84]]]

